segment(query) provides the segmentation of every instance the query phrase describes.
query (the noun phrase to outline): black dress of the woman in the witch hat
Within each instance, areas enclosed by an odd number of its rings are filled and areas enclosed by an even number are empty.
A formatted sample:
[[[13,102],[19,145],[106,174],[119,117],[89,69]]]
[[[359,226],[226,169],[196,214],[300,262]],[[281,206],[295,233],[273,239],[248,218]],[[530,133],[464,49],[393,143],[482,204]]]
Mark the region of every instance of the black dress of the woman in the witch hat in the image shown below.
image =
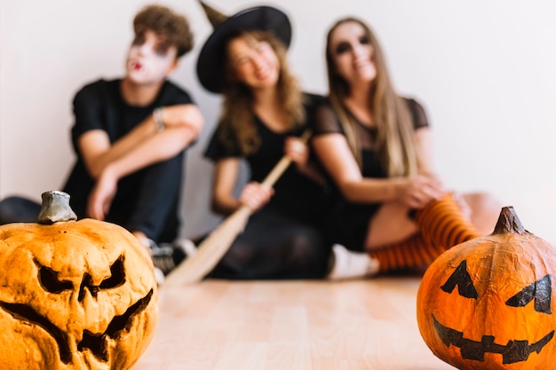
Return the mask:
[[[306,116],[312,117],[322,97],[306,95]],[[262,182],[284,155],[284,140],[301,136],[310,122],[284,133],[269,130],[255,117],[260,146],[245,157],[250,181]],[[236,138],[230,143],[215,130],[205,156],[212,161],[243,158]],[[290,166],[274,184],[274,196],[249,223],[210,277],[224,279],[316,279],[324,276],[330,245],[322,233],[327,189]]]

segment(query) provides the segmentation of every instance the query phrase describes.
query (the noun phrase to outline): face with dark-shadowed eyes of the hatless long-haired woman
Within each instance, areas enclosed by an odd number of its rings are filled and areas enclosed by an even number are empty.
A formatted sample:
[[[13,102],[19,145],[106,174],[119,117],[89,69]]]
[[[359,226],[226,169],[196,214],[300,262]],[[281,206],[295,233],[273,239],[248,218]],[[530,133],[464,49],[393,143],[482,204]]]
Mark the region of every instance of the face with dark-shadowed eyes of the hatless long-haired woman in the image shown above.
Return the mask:
[[[368,83],[377,77],[369,35],[357,22],[347,21],[332,32],[330,54],[336,72],[348,83]]]

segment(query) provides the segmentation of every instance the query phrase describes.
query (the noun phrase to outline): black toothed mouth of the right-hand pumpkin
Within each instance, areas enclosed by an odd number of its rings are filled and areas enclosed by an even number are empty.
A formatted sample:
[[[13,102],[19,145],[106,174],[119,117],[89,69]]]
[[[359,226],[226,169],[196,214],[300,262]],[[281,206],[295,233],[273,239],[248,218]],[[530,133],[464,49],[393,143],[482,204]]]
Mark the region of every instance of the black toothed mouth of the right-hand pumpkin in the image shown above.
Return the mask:
[[[466,339],[462,332],[444,327],[433,316],[434,328],[441,337],[441,341],[449,346],[455,345],[461,350],[462,358],[484,361],[485,353],[498,353],[502,355],[504,364],[526,361],[533,352],[537,354],[543,350],[544,346],[552,340],[554,330],[537,342],[529,344],[529,341],[510,340],[507,344],[497,344],[493,335],[483,335],[481,342]]]

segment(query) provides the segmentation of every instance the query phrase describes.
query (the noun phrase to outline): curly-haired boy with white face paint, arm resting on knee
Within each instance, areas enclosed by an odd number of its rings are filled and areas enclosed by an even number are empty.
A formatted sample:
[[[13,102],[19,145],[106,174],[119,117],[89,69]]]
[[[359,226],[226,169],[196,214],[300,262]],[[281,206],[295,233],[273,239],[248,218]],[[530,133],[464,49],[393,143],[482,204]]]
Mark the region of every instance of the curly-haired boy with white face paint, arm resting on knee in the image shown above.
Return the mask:
[[[160,5],[133,20],[122,78],[77,92],[71,130],[76,162],[63,191],[78,217],[120,224],[154,246],[179,230],[185,150],[203,128],[187,91],[167,78],[193,47],[185,17]],[[0,221],[35,222],[38,204],[5,199]]]

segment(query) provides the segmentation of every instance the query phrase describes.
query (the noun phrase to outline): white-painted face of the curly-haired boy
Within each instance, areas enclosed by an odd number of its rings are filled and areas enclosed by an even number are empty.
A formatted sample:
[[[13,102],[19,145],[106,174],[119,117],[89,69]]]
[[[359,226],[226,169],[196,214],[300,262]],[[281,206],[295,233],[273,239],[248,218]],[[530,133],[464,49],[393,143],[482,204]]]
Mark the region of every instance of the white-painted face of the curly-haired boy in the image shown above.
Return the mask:
[[[163,42],[155,32],[136,35],[126,60],[127,78],[134,83],[161,83],[177,67],[178,49]]]

